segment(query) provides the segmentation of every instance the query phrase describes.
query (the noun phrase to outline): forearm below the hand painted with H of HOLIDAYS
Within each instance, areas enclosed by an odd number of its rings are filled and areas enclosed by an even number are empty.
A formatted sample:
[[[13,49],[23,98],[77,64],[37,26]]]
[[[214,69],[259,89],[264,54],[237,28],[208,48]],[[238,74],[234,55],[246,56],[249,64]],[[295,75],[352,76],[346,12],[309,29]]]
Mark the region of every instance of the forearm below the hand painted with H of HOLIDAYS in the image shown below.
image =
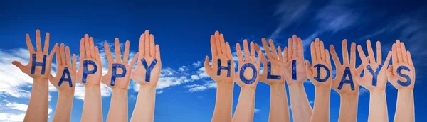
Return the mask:
[[[217,82],[216,102],[213,122],[231,121],[233,114],[233,86],[234,82]]]

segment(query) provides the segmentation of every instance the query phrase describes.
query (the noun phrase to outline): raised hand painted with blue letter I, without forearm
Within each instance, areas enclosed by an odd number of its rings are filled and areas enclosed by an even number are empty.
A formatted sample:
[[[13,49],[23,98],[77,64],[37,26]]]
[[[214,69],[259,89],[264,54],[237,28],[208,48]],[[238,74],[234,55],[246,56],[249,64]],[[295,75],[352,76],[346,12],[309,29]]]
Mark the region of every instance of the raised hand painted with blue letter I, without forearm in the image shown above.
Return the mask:
[[[289,48],[285,47],[285,52],[283,53],[283,66],[285,67],[283,73],[285,74],[286,82],[288,82],[288,85],[303,83],[307,80],[307,72],[305,71],[304,48],[302,48],[301,38],[293,35],[292,39],[288,39],[288,46]],[[293,76],[292,68],[295,68],[296,76]]]

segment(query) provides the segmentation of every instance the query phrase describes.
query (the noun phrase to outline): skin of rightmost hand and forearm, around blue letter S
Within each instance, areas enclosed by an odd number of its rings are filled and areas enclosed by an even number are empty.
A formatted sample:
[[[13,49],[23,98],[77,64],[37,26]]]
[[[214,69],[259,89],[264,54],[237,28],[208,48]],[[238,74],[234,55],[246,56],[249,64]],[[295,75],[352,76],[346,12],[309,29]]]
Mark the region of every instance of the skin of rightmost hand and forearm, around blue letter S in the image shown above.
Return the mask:
[[[398,89],[397,93],[397,104],[396,113],[394,115],[394,121],[415,121],[415,109],[413,106],[413,85],[415,84],[415,67],[413,66],[411,52],[406,51],[405,44],[401,43],[400,40],[396,40],[391,48],[393,65],[389,65],[389,69],[386,74],[389,82]],[[408,80],[398,75],[397,68],[400,66],[408,67],[410,71],[401,70],[401,74],[408,75],[411,79],[411,83],[408,84]],[[408,84],[403,86],[398,84],[398,80]]]

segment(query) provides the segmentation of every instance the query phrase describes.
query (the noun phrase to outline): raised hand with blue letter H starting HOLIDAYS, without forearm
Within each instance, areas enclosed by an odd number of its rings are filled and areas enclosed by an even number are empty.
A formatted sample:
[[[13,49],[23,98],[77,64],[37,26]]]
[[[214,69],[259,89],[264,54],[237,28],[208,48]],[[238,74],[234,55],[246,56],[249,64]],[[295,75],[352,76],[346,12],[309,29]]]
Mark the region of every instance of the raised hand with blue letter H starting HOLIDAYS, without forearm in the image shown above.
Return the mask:
[[[215,35],[211,35],[211,51],[212,51],[212,67],[209,66],[209,57],[206,56],[204,67],[206,74],[208,74],[215,82],[228,82],[233,84],[234,78],[234,62],[233,56],[231,55],[230,45],[225,42],[224,35],[219,34],[218,31]],[[218,62],[221,60],[221,62]],[[221,69],[221,73],[218,74],[218,63],[221,63],[219,67],[230,67],[229,69]]]

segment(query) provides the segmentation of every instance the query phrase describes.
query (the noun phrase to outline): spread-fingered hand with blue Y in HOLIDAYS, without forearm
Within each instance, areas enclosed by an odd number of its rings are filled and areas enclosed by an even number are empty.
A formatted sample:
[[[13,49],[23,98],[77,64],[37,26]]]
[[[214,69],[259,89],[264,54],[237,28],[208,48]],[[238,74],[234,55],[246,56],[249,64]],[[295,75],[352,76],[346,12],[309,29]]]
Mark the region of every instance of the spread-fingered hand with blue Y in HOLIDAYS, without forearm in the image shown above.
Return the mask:
[[[385,67],[382,65],[381,60],[381,43],[376,42],[376,62],[374,51],[372,50],[371,40],[367,40],[368,54],[369,57],[365,56],[362,46],[358,45],[357,50],[359,51],[359,57],[362,59],[362,64],[364,65],[364,76],[360,76],[360,72],[352,70],[353,74],[356,74],[356,82],[367,88],[369,91],[372,90],[383,90],[386,89],[387,77],[386,69],[389,65],[391,53],[387,55],[386,61],[384,62]],[[370,60],[370,61],[369,61]],[[376,76],[374,76],[375,74]]]

